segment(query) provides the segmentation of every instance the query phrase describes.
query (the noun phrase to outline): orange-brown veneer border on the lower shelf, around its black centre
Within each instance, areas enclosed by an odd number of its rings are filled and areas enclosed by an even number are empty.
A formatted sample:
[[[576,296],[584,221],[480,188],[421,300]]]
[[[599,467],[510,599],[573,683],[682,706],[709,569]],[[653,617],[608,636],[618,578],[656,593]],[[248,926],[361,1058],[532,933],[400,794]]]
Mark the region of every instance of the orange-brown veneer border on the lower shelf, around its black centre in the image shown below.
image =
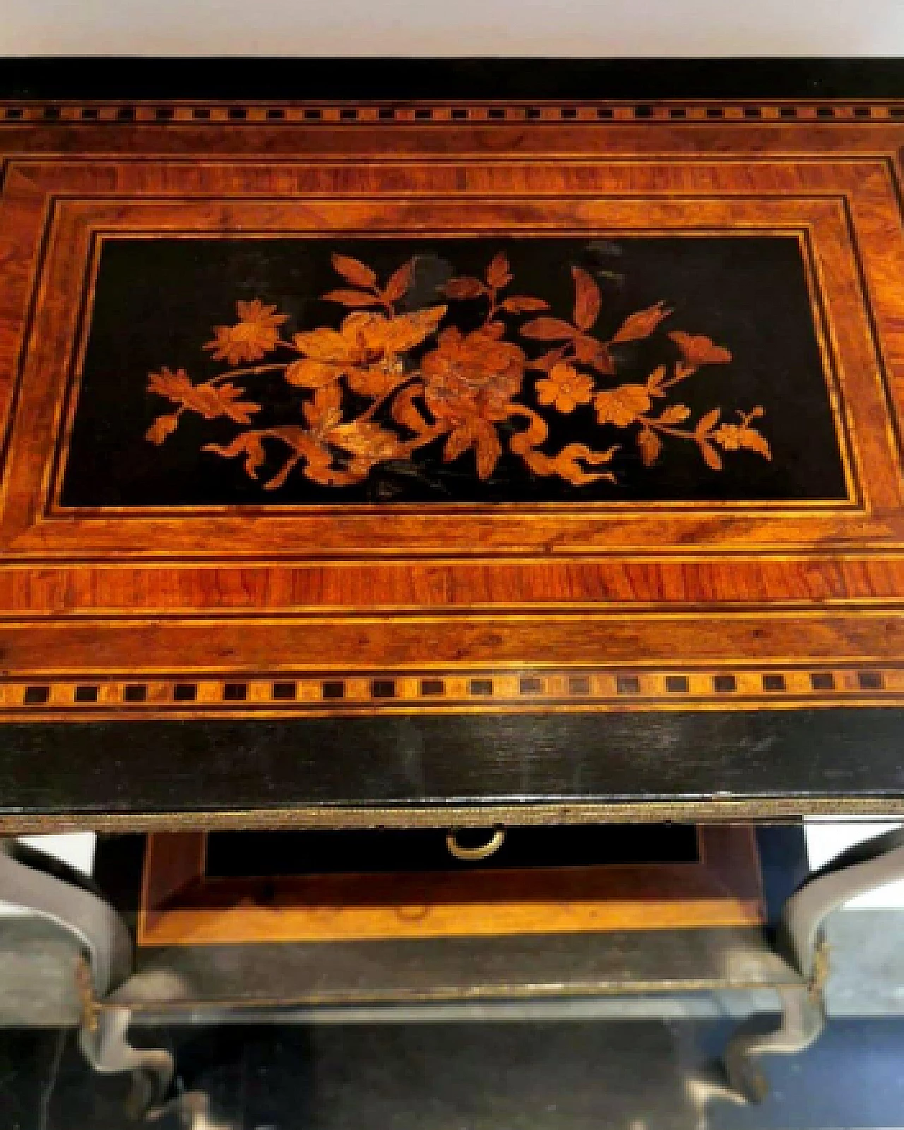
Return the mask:
[[[752,927],[749,826],[700,828],[693,862],[216,878],[203,835],[148,840],[142,946],[500,937]]]

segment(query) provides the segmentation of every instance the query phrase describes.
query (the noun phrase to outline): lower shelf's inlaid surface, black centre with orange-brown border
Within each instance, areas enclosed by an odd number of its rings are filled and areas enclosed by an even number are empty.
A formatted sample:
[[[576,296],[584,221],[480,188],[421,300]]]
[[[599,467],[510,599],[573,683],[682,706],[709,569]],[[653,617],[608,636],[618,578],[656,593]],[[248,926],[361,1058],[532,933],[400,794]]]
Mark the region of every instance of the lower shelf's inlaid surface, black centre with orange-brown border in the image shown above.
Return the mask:
[[[440,829],[152,835],[139,942],[366,941],[763,921],[749,826],[498,831],[456,832],[456,854]],[[457,858],[495,843],[485,858]]]

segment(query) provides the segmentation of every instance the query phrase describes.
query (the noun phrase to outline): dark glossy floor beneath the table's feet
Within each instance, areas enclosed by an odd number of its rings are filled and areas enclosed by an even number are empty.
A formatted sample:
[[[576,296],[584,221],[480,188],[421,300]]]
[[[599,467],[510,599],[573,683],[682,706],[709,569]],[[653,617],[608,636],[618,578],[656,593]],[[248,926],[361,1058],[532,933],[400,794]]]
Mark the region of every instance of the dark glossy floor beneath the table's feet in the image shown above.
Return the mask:
[[[701,1081],[732,1023],[139,1028],[134,1042],[178,1051],[185,1084],[210,1096],[204,1130],[904,1127],[904,1018],[833,1019],[815,1048],[769,1060],[773,1093],[760,1106]],[[71,1036],[0,1033],[2,1130],[125,1130],[125,1090],[122,1079],[93,1077]]]

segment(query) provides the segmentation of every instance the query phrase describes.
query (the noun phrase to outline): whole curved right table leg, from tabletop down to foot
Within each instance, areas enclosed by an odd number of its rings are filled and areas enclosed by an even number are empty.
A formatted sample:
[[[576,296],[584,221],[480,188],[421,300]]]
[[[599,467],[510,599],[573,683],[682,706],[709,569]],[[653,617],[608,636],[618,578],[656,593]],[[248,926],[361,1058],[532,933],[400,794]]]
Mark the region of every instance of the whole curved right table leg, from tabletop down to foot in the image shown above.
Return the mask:
[[[754,1057],[791,1054],[809,1048],[825,1026],[823,986],[828,954],[823,928],[833,911],[857,895],[904,878],[904,828],[876,836],[843,852],[811,875],[788,899],[776,944],[802,979],[800,988],[780,993],[782,1017],[762,1035],[737,1033],[729,1042],[725,1068],[731,1087],[751,1102],[762,1101],[769,1084]]]

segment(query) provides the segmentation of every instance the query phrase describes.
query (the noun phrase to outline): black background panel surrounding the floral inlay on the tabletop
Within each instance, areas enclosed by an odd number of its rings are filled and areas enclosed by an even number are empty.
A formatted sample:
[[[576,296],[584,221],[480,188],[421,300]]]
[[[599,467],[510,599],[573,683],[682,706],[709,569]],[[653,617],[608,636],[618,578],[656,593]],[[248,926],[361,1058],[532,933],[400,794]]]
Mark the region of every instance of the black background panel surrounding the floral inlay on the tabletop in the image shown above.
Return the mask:
[[[538,401],[536,382],[544,374],[528,370],[515,402],[538,411],[548,425],[541,450],[555,454],[570,443],[594,451],[618,445],[612,462],[617,483],[574,485],[558,473],[536,475],[508,450],[524,419],[497,419],[503,449],[489,477],[479,477],[475,450],[444,461],[447,436],[377,462],[362,481],[323,485],[311,481],[304,461],[284,483],[264,489],[287,461],[281,440],[263,441],[257,478],[246,472],[244,454],[227,458],[208,444],[228,445],[249,428],[261,431],[305,426],[302,405],[309,389],[290,385],[280,371],[236,377],[242,400],[261,405],[249,423],[203,411],[179,414],[172,434],[156,444],[146,433],[175,405],[148,392],[149,373],[185,370],[194,384],[232,367],[202,347],[214,325],[236,322],[236,302],[260,298],[288,315],[280,325],[286,338],[317,327],[339,328],[352,311],[322,296],[349,287],[331,266],[331,252],[354,255],[386,278],[415,257],[413,281],[398,302],[405,313],[439,304],[449,312],[438,332],[454,321],[463,332],[483,321],[485,302],[450,301],[440,287],[450,276],[483,277],[494,254],[504,251],[512,281],[502,294],[542,298],[544,316],[571,318],[574,306],[572,268],[591,276],[600,292],[597,338],[611,338],[630,314],[665,302],[673,311],[648,337],[612,347],[614,375],[596,374],[595,391],[647,381],[660,364],[678,357],[670,329],[706,334],[728,349],[730,363],[704,364],[657,399],[656,411],[684,405],[692,427],[713,408],[721,423],[736,424],[737,412],[762,406],[754,421],[771,446],[767,460],[754,450],[721,450],[722,469],[705,466],[693,441],[662,436],[653,466],[644,467],[637,425],[598,423],[593,403],[561,411]],[[506,340],[529,358],[554,348],[555,341],[529,340],[518,328],[536,313],[501,315]],[[407,350],[405,372],[416,370],[436,348],[436,333]],[[277,349],[260,364],[291,360]],[[587,365],[579,365],[587,370]],[[343,421],[371,403],[342,379]],[[403,438],[412,433],[392,418],[387,401],[371,424]],[[428,421],[433,416],[418,401]],[[350,455],[331,447],[335,467],[348,468]],[[590,468],[595,470],[595,468]],[[65,466],[61,504],[86,506],[177,506],[204,504],[360,504],[444,502],[625,502],[643,499],[807,499],[846,496],[826,380],[814,329],[798,243],[790,236],[683,236],[577,240],[115,240],[104,246],[84,376]]]

